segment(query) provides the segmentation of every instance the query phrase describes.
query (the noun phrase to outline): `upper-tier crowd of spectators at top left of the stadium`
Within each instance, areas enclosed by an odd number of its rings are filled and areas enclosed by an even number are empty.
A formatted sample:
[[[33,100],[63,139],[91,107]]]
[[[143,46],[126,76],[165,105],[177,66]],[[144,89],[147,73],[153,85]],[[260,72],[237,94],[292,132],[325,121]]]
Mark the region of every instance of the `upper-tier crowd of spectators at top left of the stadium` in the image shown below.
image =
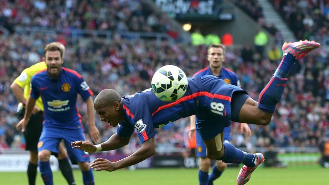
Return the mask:
[[[141,1],[0,1],[0,23],[64,30],[167,32],[169,19]]]

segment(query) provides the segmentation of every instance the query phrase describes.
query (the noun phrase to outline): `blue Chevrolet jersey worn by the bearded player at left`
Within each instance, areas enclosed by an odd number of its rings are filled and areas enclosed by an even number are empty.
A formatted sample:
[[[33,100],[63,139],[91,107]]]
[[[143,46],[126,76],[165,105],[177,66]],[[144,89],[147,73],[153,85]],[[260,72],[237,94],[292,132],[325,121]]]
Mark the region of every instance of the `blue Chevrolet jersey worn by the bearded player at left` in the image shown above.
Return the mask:
[[[86,81],[71,69],[62,67],[57,79],[52,79],[47,69],[31,79],[30,95],[35,100],[41,97],[45,107],[45,127],[82,128],[81,115],[76,107],[77,94],[86,101],[93,92]]]

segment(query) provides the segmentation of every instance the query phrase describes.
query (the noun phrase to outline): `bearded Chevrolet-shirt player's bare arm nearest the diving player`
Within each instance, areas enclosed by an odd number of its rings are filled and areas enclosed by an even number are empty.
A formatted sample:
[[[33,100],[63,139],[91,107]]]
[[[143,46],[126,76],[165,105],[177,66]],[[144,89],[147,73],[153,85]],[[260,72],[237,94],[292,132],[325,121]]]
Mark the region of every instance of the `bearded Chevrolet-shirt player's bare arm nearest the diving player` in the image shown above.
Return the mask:
[[[89,123],[89,135],[94,142],[98,142],[100,138],[99,131],[95,124],[95,112],[94,112],[94,102],[91,97],[86,100],[87,113],[88,113],[88,123]]]

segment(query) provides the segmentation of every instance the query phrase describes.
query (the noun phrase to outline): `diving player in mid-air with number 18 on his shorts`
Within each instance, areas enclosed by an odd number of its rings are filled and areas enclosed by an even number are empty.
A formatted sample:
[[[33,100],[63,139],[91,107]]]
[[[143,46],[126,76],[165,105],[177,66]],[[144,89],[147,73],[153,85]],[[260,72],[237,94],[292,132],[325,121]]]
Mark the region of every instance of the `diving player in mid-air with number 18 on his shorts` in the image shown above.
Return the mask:
[[[261,91],[258,102],[241,88],[226,84],[215,76],[195,76],[188,79],[185,95],[172,103],[158,99],[151,88],[123,98],[115,90],[102,90],[94,101],[94,108],[102,121],[118,126],[117,133],[96,146],[87,141],[76,141],[71,145],[74,149],[87,152],[118,149],[129,143],[136,128],[142,143],[140,149],[116,162],[97,158],[91,165],[96,171],[114,171],[137,164],[155,154],[154,128],[182,117],[196,115],[196,129],[207,147],[207,157],[226,163],[243,163],[237,184],[245,184],[252,172],[264,161],[264,156],[261,153],[249,154],[229,143],[223,143],[224,128],[230,125],[230,120],[268,125],[283,94],[286,76],[296,59],[303,58],[318,47],[320,44],[314,41],[285,42],[282,46],[283,58],[269,83]]]

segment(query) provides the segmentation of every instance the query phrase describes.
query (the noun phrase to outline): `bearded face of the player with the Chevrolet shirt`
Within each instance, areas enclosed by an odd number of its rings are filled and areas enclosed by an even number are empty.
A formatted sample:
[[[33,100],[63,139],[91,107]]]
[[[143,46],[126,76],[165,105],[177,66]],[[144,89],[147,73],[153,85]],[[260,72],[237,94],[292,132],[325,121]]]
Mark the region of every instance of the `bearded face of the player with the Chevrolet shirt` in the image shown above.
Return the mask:
[[[45,57],[48,73],[52,77],[58,76],[64,61],[61,53],[59,51],[47,51]]]

